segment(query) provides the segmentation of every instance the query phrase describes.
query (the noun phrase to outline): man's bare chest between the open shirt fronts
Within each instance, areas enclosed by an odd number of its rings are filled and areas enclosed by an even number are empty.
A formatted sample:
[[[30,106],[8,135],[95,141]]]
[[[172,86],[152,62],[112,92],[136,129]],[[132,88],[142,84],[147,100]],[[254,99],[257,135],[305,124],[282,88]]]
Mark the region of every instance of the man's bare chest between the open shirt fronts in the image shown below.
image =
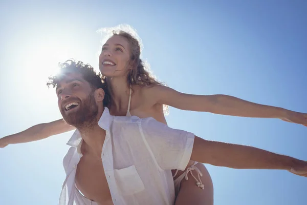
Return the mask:
[[[86,198],[104,204],[112,202],[101,160],[84,155],[78,163],[75,182]]]

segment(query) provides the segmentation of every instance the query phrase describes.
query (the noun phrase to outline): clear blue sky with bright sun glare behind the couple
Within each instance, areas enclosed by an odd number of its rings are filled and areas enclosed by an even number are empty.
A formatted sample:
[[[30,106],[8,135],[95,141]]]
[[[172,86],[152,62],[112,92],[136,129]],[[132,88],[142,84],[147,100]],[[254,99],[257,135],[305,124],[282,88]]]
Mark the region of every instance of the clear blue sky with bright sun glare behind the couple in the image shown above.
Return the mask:
[[[118,6],[116,6],[118,5]],[[97,67],[102,27],[130,24],[160,80],[181,92],[228,94],[307,112],[307,2],[0,3],[0,137],[61,118],[47,76],[59,61]],[[205,139],[307,159],[307,128],[278,119],[170,108],[170,127]],[[0,204],[56,204],[70,133],[0,150]],[[286,171],[206,166],[215,204],[305,204],[307,179]]]

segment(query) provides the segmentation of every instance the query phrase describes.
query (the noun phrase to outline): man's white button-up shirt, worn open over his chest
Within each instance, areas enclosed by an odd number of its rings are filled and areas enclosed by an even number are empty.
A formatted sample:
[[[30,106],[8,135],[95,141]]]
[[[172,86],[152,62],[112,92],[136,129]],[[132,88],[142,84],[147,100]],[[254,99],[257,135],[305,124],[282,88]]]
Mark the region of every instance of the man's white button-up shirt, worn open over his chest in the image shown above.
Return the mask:
[[[112,116],[107,108],[98,121],[106,131],[102,164],[115,205],[174,204],[171,169],[185,170],[194,134],[169,128],[152,117]],[[82,138],[76,130],[63,159],[67,177],[59,204],[96,205],[76,189],[76,168],[82,157]]]

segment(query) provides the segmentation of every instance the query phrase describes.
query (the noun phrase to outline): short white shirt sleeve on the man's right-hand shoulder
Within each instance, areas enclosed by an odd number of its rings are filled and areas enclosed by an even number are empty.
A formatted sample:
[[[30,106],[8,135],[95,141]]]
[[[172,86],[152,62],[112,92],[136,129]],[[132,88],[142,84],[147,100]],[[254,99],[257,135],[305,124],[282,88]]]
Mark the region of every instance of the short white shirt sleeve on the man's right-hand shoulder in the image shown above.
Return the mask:
[[[172,129],[151,117],[142,119],[141,128],[145,143],[161,169],[185,170],[192,154],[193,133]]]

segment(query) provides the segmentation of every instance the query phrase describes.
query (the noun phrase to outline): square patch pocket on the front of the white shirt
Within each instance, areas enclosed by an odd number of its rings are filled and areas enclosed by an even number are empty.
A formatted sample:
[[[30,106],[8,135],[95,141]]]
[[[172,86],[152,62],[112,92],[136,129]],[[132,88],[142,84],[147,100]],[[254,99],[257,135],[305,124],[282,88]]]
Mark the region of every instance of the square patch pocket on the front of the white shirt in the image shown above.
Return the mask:
[[[118,189],[123,195],[133,195],[145,189],[143,181],[134,165],[119,170],[115,169],[114,176]]]

